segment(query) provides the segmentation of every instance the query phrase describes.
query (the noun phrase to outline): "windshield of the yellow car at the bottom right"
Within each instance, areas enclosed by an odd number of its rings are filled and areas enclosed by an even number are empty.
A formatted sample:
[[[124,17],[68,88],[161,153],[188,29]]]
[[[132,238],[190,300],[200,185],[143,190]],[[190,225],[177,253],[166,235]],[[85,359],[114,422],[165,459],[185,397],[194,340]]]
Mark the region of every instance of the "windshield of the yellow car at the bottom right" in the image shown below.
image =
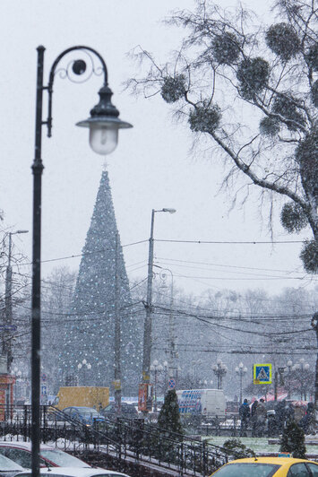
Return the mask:
[[[271,477],[280,465],[242,462],[228,464],[215,473],[218,477]]]

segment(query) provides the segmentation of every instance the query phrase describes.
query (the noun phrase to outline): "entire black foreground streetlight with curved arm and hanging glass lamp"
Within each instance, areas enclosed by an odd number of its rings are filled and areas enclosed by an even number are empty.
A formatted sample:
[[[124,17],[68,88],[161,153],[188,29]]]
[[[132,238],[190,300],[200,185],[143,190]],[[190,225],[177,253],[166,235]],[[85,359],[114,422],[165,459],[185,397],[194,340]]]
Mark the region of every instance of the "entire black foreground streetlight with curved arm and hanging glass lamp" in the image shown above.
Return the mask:
[[[39,386],[40,386],[40,279],[41,279],[41,189],[42,189],[42,173],[43,162],[41,158],[42,144],[42,126],[47,126],[47,136],[52,134],[52,96],[53,83],[56,77],[57,65],[65,55],[80,51],[90,58],[92,74],[103,74],[104,83],[99,90],[99,104],[90,110],[90,117],[77,123],[77,126],[90,128],[90,147],[94,152],[105,155],[113,152],[116,148],[118,139],[118,129],[132,127],[131,124],[125,123],[119,119],[119,111],[111,102],[112,91],[108,87],[107,66],[102,56],[90,47],[76,46],[65,49],[56,57],[51,66],[47,86],[43,84],[44,70],[44,51],[45,48],[39,46],[38,65],[37,65],[37,95],[36,95],[36,124],[35,124],[35,157],[32,164],[33,173],[33,248],[32,248],[32,314],[31,314],[31,336],[32,336],[32,355],[31,355],[31,371],[32,371],[32,426],[31,426],[31,442],[32,442],[32,477],[39,475],[39,442],[40,442],[40,416],[39,416]],[[99,68],[95,68],[95,59],[99,60]],[[70,78],[72,74],[84,74],[87,69],[85,61],[77,59],[70,61],[64,68],[64,77]],[[47,91],[47,120],[43,120],[43,92]]]

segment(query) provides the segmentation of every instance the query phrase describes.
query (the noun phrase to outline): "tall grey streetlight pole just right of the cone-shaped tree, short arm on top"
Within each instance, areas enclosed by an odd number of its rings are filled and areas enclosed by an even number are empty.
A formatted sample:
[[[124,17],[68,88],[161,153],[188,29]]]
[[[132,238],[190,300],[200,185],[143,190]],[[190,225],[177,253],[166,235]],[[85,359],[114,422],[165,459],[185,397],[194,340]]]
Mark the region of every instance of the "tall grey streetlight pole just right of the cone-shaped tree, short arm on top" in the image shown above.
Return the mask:
[[[148,258],[148,279],[147,279],[147,301],[144,304],[146,308],[146,317],[143,329],[143,356],[142,356],[142,382],[150,383],[150,360],[151,360],[151,314],[152,314],[152,279],[153,279],[153,229],[155,221],[155,213],[169,212],[175,213],[176,209],[160,209],[158,211],[152,209],[151,226],[149,239],[149,258]]]

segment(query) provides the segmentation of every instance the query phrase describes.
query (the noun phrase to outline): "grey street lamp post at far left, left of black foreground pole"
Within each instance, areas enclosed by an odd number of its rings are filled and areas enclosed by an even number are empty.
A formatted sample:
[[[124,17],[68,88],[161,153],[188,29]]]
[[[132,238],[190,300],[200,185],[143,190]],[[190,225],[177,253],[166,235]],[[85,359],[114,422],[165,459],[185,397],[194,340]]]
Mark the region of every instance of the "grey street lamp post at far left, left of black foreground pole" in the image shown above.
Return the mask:
[[[12,333],[13,325],[13,267],[11,265],[12,258],[12,237],[13,235],[28,233],[29,230],[15,230],[9,232],[9,250],[8,250],[8,265],[5,271],[5,314],[4,314],[4,338],[3,338],[3,353],[7,360],[7,373],[11,372],[11,364],[13,362],[12,340],[10,334]]]

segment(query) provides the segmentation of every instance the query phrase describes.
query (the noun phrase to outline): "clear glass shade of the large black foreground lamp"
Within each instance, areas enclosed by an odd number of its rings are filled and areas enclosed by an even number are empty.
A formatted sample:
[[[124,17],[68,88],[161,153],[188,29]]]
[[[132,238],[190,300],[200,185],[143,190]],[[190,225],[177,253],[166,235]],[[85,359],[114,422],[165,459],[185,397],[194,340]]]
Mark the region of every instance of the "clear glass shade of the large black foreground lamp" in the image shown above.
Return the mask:
[[[90,124],[90,147],[101,155],[110,154],[118,143],[118,126]]]

